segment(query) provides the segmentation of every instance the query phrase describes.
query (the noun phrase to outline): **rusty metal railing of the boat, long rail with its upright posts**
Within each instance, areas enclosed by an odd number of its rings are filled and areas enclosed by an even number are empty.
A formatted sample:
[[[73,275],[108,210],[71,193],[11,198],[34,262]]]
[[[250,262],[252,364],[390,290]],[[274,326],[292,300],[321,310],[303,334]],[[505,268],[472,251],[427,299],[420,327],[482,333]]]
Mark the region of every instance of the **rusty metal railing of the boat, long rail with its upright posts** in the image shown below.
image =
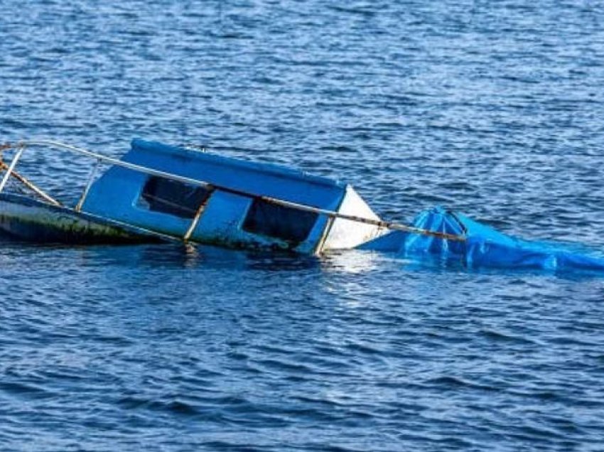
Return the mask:
[[[234,195],[244,196],[246,198],[262,200],[269,204],[281,205],[282,207],[291,208],[291,209],[295,209],[295,210],[301,210],[303,212],[313,212],[318,215],[325,215],[325,216],[329,217],[331,220],[335,220],[336,218],[341,218],[343,220],[360,222],[360,223],[364,223],[366,225],[374,225],[374,226],[382,227],[382,228],[388,229],[388,230],[398,230],[398,231],[403,231],[403,232],[409,232],[411,234],[428,235],[431,237],[438,237],[443,240],[453,240],[453,241],[458,241],[458,242],[465,241],[465,236],[463,236],[463,235],[447,234],[445,232],[435,232],[435,231],[420,229],[418,227],[412,227],[409,225],[403,225],[403,224],[397,223],[397,222],[373,220],[371,218],[357,217],[355,215],[346,215],[343,213],[334,212],[333,210],[314,208],[310,205],[292,203],[290,201],[279,200],[277,198],[271,198],[269,196],[254,195],[253,193],[247,193],[242,190],[236,190],[234,188],[210,184],[210,183],[207,183],[204,181],[198,181],[197,179],[188,178],[188,177],[184,177],[184,176],[178,176],[177,174],[173,174],[173,173],[166,173],[165,171],[154,170],[152,168],[147,168],[146,166],[136,165],[136,163],[129,163],[127,161],[122,161],[117,158],[104,156],[102,154],[97,154],[96,152],[89,151],[87,149],[82,149],[77,146],[72,146],[70,144],[64,144],[64,143],[60,143],[59,141],[52,141],[52,140],[27,140],[27,141],[18,141],[18,143],[16,143],[16,144],[0,145],[0,151],[6,150],[6,149],[16,149],[16,154],[13,157],[13,159],[11,160],[9,168],[6,170],[6,174],[4,175],[4,178],[2,178],[2,181],[0,182],[0,193],[2,193],[2,190],[4,190],[4,187],[5,187],[6,183],[9,181],[11,174],[14,172],[14,169],[15,169],[18,161],[21,159],[21,156],[23,156],[23,152],[26,150],[26,147],[28,147],[28,146],[48,146],[50,148],[58,148],[58,149],[70,151],[74,154],[80,154],[80,155],[86,156],[88,158],[94,158],[97,161],[95,168],[98,168],[100,163],[110,163],[112,165],[121,166],[122,168],[127,168],[132,171],[138,171],[139,173],[149,174],[150,176],[166,178],[171,181],[178,181],[178,182],[187,183],[190,185],[198,185],[200,187],[206,188],[207,190],[221,190],[226,193],[232,193]],[[92,185],[92,182],[94,181],[94,177],[96,174],[95,168],[93,168],[93,170],[91,171],[87,185],[85,186],[84,191],[82,192],[80,201],[77,203],[77,205],[74,208],[75,212],[80,212],[82,205],[84,204],[88,191],[90,190],[90,186]],[[50,198],[50,197],[48,197],[48,198]],[[52,198],[50,198],[50,200],[52,200]],[[58,203],[58,201],[55,201],[55,202]],[[193,219],[191,227],[187,231],[185,237],[183,237],[185,241],[188,240],[188,238],[190,238],[191,233],[193,233],[193,229],[195,228],[195,226],[197,225],[197,222],[199,221],[199,216],[201,214],[201,210],[203,210],[203,206],[200,206],[200,210],[198,212],[199,215],[195,215],[195,218]]]

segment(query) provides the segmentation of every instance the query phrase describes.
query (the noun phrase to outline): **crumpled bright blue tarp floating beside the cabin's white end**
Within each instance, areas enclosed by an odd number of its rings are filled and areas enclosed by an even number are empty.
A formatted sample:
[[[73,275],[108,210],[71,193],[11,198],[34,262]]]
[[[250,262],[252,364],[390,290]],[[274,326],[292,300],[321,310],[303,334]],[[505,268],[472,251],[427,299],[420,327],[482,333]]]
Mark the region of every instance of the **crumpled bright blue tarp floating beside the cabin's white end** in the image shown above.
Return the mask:
[[[394,231],[363,244],[360,249],[396,252],[408,259],[437,258],[463,266],[543,271],[604,272],[604,258],[576,252],[563,244],[529,242],[443,208],[421,212],[413,226],[435,232],[463,235],[465,241]]]

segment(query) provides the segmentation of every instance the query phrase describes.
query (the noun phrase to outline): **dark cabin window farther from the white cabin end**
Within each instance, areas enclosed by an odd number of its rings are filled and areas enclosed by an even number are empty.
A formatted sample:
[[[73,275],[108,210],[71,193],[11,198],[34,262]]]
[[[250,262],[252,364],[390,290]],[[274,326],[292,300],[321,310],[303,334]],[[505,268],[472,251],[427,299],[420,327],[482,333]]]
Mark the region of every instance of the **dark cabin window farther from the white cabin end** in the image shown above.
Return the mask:
[[[194,218],[211,194],[207,188],[153,176],[145,183],[139,205],[153,212]]]

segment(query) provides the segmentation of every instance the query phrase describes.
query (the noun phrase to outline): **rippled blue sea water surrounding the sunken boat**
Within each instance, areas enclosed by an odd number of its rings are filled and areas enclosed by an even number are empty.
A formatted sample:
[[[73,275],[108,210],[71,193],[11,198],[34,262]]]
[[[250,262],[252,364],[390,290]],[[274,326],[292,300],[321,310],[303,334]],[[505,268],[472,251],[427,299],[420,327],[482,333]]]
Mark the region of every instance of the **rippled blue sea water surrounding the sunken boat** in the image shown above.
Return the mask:
[[[596,252],[603,99],[595,0],[0,0],[0,141],[203,144]],[[604,450],[601,278],[2,242],[0,288],[1,451]]]

